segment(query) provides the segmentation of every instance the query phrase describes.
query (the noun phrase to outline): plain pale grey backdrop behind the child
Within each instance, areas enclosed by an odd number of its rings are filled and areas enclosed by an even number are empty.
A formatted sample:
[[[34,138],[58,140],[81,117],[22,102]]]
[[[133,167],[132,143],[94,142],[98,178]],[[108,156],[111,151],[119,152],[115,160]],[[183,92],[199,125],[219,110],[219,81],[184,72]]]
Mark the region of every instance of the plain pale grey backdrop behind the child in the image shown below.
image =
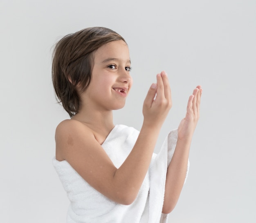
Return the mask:
[[[65,222],[52,157],[68,115],[55,101],[51,51],[90,26],[117,31],[130,48],[134,85],[115,124],[140,129],[148,88],[168,73],[173,108],[156,150],[203,86],[189,178],[169,222],[256,222],[255,0],[1,0],[0,222]]]

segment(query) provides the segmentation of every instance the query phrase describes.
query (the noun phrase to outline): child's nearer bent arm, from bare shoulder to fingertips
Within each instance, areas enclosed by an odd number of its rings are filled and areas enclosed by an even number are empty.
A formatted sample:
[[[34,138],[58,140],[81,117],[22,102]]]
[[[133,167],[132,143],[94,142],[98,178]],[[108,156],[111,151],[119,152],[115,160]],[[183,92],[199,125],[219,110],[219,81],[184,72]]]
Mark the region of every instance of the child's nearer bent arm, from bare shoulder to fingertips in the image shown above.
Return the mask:
[[[65,120],[56,129],[58,159],[67,160],[83,179],[106,197],[128,205],[137,197],[171,105],[168,78],[162,72],[157,75],[157,86],[152,84],[144,101],[144,123],[135,146],[118,169],[92,130],[75,120]]]

